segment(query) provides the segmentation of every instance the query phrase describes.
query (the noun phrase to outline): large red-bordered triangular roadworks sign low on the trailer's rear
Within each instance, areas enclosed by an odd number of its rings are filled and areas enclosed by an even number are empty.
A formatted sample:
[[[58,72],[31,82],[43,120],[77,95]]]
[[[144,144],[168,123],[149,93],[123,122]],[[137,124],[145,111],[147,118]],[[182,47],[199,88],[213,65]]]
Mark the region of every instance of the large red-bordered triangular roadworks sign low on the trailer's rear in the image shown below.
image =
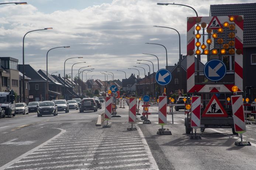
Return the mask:
[[[228,117],[228,114],[215,94],[207,104],[202,117]]]

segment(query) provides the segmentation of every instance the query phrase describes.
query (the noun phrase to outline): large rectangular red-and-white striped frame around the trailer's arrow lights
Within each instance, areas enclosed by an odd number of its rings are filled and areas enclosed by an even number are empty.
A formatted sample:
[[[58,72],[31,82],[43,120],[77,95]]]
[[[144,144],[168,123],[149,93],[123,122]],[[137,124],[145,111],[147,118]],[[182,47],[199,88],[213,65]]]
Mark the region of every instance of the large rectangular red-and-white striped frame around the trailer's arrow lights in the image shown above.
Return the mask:
[[[240,15],[243,18],[243,15]],[[237,49],[243,50],[243,20],[237,21],[238,16],[234,16],[235,21],[229,21],[229,16],[217,17],[219,22],[224,23],[235,23],[235,84],[207,84],[207,85],[195,85],[195,25],[203,22],[209,24],[213,17],[200,17],[201,21],[196,23],[196,17],[187,17],[187,92],[194,93],[206,92],[206,93],[217,93],[217,92],[232,92],[232,86],[238,86],[238,91],[243,91],[243,53],[236,54]],[[189,23],[188,18],[193,18],[193,22]],[[193,50],[193,55],[188,55],[188,51]],[[215,88],[212,88],[215,87]]]

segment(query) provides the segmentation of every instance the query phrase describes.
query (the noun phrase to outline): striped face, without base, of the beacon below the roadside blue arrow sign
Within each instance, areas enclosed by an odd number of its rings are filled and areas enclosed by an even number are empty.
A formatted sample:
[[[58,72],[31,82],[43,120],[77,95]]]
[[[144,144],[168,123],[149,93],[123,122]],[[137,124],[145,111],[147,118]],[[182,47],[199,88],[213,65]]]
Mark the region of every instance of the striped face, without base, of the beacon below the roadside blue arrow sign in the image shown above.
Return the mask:
[[[158,124],[167,124],[167,96],[159,96],[158,104]]]

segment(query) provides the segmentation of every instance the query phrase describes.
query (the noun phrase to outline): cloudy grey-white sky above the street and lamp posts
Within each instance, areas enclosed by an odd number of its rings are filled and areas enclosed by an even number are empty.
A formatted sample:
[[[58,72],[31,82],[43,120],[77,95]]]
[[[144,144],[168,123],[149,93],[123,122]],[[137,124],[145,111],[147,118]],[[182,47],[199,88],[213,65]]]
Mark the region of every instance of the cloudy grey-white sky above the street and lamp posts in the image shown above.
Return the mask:
[[[22,0],[0,0],[0,3],[23,2]],[[48,72],[63,75],[64,61],[66,73],[73,76],[78,69],[91,65],[94,72],[87,78],[104,80],[100,72],[114,73],[115,79],[127,78],[131,73],[138,75],[135,68],[142,66],[149,72],[147,65],[136,64],[137,59],[150,60],[157,70],[165,68],[166,54],[162,46],[145,44],[158,43],[167,48],[168,65],[174,65],[179,59],[179,38],[174,30],[156,28],[153,25],[177,29],[181,35],[181,54],[186,55],[186,18],[194,17],[191,8],[182,6],[158,6],[156,3],[186,4],[196,9],[198,16],[209,16],[211,4],[255,3],[255,0],[27,0],[27,5],[0,5],[0,57],[13,57],[22,64],[22,46],[25,33],[35,29],[52,27],[28,33],[25,37],[25,64],[35,70],[46,70],[48,54]],[[205,62],[206,58],[202,57]],[[150,62],[145,62],[151,66]],[[144,71],[140,69],[140,76]],[[57,74],[58,74],[57,73]],[[111,76],[108,76],[111,79]]]

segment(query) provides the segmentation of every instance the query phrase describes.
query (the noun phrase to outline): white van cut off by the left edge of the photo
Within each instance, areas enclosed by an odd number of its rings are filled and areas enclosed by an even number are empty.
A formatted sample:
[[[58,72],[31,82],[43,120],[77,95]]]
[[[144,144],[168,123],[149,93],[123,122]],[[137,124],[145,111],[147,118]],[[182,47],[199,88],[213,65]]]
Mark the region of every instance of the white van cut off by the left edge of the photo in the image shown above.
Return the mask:
[[[0,106],[4,109],[6,116],[15,116],[14,91],[0,92]]]

